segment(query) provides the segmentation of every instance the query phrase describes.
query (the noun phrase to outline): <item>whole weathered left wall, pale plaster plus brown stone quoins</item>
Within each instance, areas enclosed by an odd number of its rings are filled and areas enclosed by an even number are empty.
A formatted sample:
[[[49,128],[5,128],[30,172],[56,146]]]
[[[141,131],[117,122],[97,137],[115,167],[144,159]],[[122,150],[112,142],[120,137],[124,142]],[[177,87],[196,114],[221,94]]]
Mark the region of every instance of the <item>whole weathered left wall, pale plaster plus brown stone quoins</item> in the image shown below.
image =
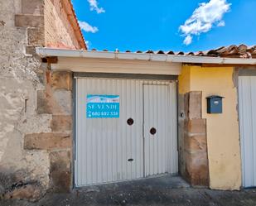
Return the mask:
[[[44,3],[0,1],[0,199],[70,190],[72,74],[35,54],[46,43]]]

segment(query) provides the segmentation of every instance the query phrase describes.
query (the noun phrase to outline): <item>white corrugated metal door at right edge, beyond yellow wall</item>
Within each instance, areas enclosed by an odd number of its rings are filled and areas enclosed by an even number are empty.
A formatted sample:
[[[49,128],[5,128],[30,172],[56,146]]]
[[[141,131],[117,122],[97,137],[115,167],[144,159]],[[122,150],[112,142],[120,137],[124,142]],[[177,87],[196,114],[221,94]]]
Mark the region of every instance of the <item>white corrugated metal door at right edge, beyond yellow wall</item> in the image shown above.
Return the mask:
[[[239,123],[243,186],[256,186],[256,77],[239,77]]]

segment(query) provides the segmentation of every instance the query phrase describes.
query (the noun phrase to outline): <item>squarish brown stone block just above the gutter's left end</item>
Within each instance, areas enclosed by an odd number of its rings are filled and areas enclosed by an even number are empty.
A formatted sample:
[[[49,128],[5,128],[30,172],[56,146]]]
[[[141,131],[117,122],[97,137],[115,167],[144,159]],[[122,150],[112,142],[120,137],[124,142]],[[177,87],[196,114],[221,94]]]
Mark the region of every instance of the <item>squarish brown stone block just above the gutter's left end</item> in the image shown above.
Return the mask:
[[[28,46],[45,46],[44,31],[42,28],[27,28]]]

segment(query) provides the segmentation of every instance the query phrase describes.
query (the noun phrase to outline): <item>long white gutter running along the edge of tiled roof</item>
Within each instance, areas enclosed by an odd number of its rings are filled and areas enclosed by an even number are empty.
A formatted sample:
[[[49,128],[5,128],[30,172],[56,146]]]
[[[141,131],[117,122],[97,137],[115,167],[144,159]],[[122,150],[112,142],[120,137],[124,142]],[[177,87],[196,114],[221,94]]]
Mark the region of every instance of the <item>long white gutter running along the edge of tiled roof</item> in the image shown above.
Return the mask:
[[[162,55],[148,53],[127,53],[110,51],[89,51],[89,50],[65,50],[37,47],[36,53],[41,57],[80,57],[92,59],[113,59],[113,60],[147,60],[169,63],[187,64],[217,64],[217,65],[256,65],[253,58],[229,58],[196,55]]]

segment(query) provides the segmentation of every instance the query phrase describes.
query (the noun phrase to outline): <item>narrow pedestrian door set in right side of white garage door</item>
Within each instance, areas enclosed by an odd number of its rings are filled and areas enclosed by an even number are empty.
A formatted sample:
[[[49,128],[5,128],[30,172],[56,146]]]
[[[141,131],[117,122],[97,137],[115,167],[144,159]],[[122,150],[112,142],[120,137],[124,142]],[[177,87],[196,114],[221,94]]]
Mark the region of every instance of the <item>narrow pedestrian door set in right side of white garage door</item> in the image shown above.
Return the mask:
[[[176,174],[176,86],[144,84],[145,176]]]

